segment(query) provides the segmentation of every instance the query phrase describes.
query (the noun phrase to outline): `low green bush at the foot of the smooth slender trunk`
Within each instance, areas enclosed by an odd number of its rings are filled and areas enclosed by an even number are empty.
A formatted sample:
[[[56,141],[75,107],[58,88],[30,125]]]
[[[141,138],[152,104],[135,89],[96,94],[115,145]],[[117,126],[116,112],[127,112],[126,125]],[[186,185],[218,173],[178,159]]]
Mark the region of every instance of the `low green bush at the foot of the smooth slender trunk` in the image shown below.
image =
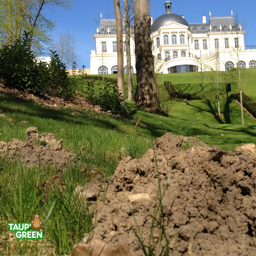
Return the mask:
[[[85,86],[86,97],[93,105],[99,105],[105,111],[124,117],[131,117],[131,109],[122,105],[116,84],[104,83],[103,89],[96,80],[87,81]]]

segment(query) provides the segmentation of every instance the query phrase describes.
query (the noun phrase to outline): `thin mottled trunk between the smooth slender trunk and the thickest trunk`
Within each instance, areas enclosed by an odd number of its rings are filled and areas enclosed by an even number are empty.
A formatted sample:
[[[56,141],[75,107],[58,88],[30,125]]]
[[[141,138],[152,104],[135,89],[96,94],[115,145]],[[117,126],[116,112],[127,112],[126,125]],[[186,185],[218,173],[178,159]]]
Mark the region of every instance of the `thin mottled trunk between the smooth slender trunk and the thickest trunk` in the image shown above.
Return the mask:
[[[127,60],[127,80],[128,80],[128,100],[133,100],[132,93],[132,64],[131,64],[131,46],[130,46],[130,16],[127,0],[124,0],[124,15],[125,15],[125,45],[126,45],[126,60]]]

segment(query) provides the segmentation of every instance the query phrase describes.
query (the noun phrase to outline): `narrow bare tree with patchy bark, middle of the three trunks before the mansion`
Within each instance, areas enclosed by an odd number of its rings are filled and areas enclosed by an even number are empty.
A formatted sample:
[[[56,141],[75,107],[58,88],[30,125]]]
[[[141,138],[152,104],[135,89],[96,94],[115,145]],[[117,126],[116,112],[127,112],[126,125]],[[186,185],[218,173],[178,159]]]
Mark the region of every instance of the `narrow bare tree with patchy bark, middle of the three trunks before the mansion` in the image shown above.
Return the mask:
[[[125,45],[127,60],[127,80],[128,80],[128,100],[133,100],[132,92],[132,63],[131,63],[131,29],[130,25],[133,20],[133,0],[124,0],[124,18],[125,18]],[[132,18],[131,18],[132,15]]]

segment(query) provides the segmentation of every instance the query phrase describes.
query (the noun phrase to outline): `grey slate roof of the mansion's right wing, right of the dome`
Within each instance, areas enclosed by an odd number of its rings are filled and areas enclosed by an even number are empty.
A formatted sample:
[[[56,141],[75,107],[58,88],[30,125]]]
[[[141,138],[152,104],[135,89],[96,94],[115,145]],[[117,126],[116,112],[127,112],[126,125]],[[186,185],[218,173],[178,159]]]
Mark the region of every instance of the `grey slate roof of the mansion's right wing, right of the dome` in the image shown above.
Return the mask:
[[[236,21],[234,17],[210,17],[208,23],[190,23],[189,26],[193,34],[199,33],[207,33],[210,31],[209,27],[212,27],[212,32],[220,31],[220,25],[222,27],[222,31],[229,31],[229,25],[232,26],[232,31],[236,31],[234,26],[236,25]]]

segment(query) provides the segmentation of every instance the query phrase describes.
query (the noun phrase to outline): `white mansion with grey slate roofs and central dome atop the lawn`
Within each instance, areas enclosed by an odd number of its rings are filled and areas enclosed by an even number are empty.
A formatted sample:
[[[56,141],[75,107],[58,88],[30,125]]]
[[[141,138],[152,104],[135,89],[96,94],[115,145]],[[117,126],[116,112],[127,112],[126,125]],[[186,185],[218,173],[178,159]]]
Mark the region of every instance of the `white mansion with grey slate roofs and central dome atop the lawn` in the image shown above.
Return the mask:
[[[231,16],[212,17],[209,22],[203,15],[202,23],[191,23],[183,15],[172,13],[172,3],[164,3],[165,13],[151,22],[152,49],[157,73],[180,73],[204,71],[217,67],[256,68],[256,46],[244,45],[245,31]],[[102,19],[93,36],[96,50],[90,57],[91,74],[117,73],[116,20]],[[131,28],[131,32],[134,30]],[[123,20],[123,41],[125,46],[125,23]],[[135,70],[134,40],[131,37],[132,71]],[[238,53],[237,53],[238,52]],[[127,72],[124,54],[124,73]]]

